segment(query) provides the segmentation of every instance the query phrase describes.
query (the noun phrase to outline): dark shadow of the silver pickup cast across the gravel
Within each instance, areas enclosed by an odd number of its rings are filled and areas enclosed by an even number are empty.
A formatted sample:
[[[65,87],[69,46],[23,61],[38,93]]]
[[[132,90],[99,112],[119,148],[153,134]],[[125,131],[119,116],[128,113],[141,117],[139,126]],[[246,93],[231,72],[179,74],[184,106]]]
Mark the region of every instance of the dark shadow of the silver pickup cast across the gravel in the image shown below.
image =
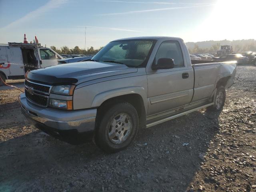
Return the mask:
[[[102,186],[109,191],[184,191],[218,133],[219,114],[201,110],[142,129],[134,144],[116,154],[105,154],[92,142],[70,145],[40,131],[10,139],[0,144],[0,191],[56,191],[62,185],[84,191]]]

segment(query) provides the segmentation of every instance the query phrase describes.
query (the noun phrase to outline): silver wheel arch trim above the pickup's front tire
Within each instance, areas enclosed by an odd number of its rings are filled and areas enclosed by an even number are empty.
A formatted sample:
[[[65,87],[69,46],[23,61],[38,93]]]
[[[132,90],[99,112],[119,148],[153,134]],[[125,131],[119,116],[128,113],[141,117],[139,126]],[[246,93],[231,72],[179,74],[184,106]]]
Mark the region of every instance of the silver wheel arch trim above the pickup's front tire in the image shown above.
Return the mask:
[[[143,87],[132,86],[132,87],[124,87],[113,90],[108,90],[97,94],[92,101],[92,108],[100,106],[104,101],[114,98],[117,96],[123,96],[128,94],[138,94],[142,97],[144,102],[145,111],[148,111],[148,100],[147,100],[147,92]]]

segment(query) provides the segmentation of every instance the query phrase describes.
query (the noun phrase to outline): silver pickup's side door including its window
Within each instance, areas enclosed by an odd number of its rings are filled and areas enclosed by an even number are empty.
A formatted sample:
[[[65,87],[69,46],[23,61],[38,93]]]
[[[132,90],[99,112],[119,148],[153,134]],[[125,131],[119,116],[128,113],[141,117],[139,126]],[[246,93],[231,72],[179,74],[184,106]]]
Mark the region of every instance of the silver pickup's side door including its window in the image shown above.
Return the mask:
[[[172,58],[174,68],[148,71],[148,115],[189,104],[193,94],[192,68],[185,65],[178,41],[162,42],[154,62],[160,58]]]

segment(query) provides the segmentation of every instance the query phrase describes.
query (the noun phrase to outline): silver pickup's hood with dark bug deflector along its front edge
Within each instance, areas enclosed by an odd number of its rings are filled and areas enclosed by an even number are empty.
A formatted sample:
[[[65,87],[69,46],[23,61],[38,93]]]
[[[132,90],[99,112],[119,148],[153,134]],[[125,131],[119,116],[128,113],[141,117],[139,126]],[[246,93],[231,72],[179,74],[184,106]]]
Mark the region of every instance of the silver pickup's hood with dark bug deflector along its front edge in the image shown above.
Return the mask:
[[[78,62],[30,71],[27,79],[44,84],[80,84],[90,80],[135,73],[137,68],[107,62]]]

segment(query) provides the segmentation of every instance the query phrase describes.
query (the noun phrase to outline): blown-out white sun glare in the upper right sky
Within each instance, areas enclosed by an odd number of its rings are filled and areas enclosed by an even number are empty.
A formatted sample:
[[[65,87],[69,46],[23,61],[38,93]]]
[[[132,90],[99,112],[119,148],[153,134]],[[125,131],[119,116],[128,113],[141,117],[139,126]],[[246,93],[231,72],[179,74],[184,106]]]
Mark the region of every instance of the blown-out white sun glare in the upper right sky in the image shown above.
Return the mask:
[[[198,41],[255,39],[255,7],[256,0],[218,0],[193,37]]]

